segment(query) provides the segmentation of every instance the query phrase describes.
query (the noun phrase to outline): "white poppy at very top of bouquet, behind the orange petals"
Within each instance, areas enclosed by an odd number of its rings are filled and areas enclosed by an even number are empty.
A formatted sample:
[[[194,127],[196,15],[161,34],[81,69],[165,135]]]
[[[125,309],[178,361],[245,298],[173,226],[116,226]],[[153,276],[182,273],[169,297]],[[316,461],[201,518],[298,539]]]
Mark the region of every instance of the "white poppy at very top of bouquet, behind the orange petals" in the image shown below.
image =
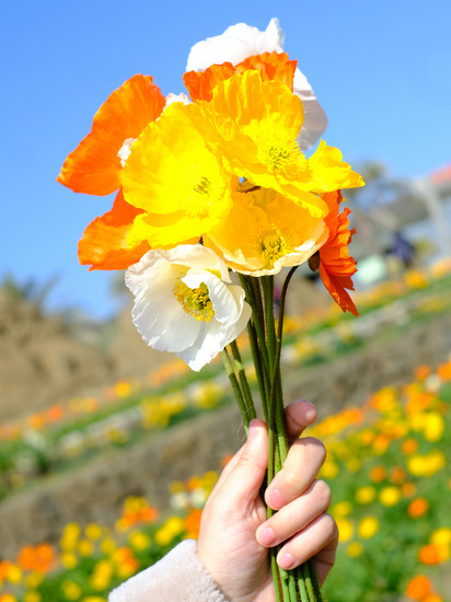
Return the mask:
[[[245,23],[228,27],[221,35],[207,37],[195,44],[189,53],[186,71],[205,71],[210,65],[229,61],[232,65],[242,62],[250,56],[263,53],[281,53],[284,32],[278,19],[269,21],[265,32]],[[304,107],[304,121],[298,136],[301,151],[310,149],[327,127],[327,117],[314,95],[305,76],[297,69],[294,72],[293,93]]]

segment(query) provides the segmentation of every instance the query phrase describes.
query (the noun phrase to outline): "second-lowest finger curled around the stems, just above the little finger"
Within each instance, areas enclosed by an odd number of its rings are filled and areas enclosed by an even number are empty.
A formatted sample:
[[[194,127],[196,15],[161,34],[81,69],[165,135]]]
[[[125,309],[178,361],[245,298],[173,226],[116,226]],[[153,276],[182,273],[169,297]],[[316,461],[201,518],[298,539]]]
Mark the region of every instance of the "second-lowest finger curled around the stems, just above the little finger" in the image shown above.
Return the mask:
[[[256,532],[257,542],[273,547],[303,531],[331,505],[332,494],[324,481],[314,481],[308,490],[265,521]]]

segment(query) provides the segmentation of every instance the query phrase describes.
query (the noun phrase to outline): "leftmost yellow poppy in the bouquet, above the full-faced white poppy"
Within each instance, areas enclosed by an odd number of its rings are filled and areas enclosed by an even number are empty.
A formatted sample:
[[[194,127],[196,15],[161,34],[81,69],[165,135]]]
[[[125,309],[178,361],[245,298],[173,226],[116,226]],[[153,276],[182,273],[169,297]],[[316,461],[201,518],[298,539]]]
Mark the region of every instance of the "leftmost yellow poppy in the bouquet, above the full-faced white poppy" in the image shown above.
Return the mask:
[[[127,235],[132,247],[147,241],[153,248],[197,242],[232,206],[232,184],[194,126],[197,105],[171,104],[134,142],[122,171],[124,197],[144,212]]]

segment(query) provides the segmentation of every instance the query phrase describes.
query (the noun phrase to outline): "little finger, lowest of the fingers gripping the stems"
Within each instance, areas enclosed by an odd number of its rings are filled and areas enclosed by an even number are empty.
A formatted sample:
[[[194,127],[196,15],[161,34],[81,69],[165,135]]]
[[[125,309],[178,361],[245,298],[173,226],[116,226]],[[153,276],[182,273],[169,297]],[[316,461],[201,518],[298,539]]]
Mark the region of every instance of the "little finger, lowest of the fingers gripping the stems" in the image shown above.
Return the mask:
[[[321,514],[281,547],[277,555],[277,564],[288,570],[317,555],[319,565],[331,567],[334,564],[337,542],[336,522],[331,514]]]

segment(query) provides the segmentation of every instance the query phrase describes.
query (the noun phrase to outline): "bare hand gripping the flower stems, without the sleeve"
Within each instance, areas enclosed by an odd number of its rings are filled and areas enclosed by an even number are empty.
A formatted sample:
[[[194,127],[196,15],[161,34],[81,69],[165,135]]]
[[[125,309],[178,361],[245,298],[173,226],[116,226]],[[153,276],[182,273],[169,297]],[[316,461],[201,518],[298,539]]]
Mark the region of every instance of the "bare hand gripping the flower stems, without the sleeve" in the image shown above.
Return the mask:
[[[335,562],[338,529],[326,513],[331,490],[317,473],[325,460],[317,439],[299,439],[316,419],[309,402],[286,408],[291,448],[282,470],[265,491],[278,510],[266,520],[259,496],[267,470],[268,436],[252,420],[246,443],[223,470],[205,506],[198,554],[208,572],[233,602],[275,602],[268,548],[285,542],[277,563],[294,568],[313,557],[320,583]]]

